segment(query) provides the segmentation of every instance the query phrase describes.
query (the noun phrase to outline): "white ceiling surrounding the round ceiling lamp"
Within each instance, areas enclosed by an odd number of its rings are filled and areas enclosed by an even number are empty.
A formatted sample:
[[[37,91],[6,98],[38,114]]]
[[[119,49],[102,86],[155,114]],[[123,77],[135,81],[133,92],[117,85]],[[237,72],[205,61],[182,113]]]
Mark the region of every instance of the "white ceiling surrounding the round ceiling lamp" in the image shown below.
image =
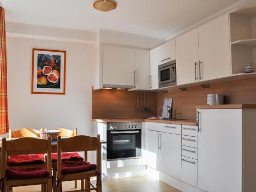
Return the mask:
[[[7,22],[165,38],[239,0],[116,0],[100,12],[93,0],[2,0]]]

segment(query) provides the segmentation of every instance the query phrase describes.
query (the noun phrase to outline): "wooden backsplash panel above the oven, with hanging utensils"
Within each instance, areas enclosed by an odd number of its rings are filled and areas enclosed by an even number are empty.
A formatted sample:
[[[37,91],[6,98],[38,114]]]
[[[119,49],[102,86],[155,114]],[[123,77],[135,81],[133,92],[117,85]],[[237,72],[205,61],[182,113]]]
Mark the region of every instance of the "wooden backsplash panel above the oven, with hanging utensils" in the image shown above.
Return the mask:
[[[147,118],[155,116],[157,114],[157,93],[150,93],[148,97],[148,107],[151,112],[137,111],[136,105],[136,91],[104,89],[92,91],[92,118]],[[140,105],[143,105],[143,97],[140,97]]]

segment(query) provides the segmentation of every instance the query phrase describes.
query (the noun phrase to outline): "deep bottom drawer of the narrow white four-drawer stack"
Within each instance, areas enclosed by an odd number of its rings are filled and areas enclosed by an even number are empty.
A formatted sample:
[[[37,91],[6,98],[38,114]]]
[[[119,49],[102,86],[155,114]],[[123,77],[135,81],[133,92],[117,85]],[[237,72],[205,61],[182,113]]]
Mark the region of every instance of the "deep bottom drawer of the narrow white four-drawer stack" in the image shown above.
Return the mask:
[[[197,187],[197,160],[181,156],[181,180]]]

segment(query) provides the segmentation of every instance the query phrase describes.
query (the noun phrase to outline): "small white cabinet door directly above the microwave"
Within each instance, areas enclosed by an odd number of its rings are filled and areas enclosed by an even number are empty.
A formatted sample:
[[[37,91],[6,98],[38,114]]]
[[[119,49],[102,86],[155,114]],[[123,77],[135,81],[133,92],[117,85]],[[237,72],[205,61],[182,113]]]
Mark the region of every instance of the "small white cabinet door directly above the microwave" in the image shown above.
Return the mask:
[[[176,59],[175,39],[158,47],[158,65]]]

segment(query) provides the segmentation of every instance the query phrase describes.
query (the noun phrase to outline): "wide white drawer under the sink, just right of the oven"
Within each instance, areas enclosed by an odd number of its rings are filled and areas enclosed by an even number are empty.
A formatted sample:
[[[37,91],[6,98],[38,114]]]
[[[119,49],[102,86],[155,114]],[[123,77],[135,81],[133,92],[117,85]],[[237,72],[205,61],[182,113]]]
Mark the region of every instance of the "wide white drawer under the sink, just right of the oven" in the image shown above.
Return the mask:
[[[146,130],[181,135],[181,125],[179,124],[146,122],[145,126],[146,126]]]

